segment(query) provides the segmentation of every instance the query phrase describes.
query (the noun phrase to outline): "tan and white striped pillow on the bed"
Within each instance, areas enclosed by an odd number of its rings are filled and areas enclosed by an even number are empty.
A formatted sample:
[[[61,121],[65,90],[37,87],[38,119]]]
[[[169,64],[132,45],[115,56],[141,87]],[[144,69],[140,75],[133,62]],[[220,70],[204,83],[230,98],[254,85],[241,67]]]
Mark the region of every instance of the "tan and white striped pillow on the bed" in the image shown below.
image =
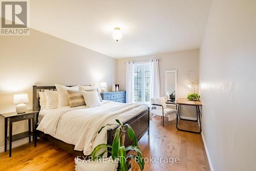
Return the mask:
[[[81,91],[77,90],[67,90],[69,94],[69,105],[70,108],[75,108],[80,105],[86,105],[84,102],[83,95]]]

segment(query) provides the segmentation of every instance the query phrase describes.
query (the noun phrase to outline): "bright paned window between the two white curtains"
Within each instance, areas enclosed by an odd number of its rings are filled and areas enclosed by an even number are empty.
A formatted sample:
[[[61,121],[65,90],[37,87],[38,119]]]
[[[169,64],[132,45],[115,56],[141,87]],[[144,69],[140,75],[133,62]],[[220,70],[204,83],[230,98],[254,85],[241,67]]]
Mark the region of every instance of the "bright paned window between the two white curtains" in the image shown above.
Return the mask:
[[[134,66],[134,101],[150,101],[150,63]]]

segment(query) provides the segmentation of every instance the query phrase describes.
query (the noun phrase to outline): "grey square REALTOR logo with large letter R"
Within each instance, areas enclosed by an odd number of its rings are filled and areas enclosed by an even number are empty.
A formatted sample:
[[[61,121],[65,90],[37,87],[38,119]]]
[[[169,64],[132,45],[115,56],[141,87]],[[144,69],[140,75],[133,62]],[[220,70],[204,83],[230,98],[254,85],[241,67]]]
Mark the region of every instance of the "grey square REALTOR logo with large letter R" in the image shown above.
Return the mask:
[[[28,1],[1,1],[1,35],[29,35]]]

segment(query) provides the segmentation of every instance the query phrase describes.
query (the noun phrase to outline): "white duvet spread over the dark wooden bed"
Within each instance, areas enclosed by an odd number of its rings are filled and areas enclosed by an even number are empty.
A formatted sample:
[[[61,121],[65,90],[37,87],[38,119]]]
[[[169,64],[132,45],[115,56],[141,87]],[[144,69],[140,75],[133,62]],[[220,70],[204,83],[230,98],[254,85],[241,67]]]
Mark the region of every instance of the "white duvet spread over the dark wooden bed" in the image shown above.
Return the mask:
[[[98,134],[103,125],[116,123],[117,118],[124,122],[146,109],[147,107],[141,104],[103,100],[101,106],[94,108],[65,106],[44,110],[39,113],[41,120],[37,130],[66,143],[74,144],[75,150],[83,151],[84,155],[90,155],[95,146],[106,143],[106,131],[115,126],[106,126]]]

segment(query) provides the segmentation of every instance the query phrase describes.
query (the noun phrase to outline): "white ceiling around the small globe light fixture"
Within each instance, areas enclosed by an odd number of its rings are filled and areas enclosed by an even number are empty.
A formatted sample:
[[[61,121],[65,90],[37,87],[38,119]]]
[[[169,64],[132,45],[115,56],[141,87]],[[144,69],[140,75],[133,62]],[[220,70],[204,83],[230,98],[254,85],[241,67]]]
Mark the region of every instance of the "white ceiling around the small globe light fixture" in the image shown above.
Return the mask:
[[[200,47],[211,0],[33,0],[30,27],[114,57]],[[120,27],[122,38],[112,32]]]

